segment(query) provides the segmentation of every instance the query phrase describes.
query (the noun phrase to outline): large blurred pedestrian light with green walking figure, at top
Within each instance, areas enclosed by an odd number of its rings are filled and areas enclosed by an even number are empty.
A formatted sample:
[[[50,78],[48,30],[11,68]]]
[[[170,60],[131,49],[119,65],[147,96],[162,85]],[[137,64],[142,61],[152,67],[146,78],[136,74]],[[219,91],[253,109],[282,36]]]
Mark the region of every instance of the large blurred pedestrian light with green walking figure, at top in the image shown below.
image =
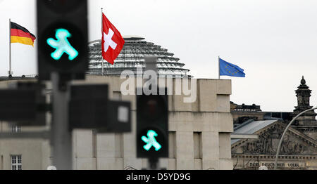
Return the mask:
[[[51,72],[85,79],[87,0],[37,0],[37,34],[40,80]]]

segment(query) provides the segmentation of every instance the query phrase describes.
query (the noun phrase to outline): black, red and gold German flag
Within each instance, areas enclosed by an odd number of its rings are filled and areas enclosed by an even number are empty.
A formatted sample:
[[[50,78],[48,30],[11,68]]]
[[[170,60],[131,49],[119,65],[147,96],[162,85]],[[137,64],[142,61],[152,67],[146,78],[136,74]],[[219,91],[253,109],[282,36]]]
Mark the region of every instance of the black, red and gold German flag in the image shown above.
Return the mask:
[[[36,37],[30,33],[25,27],[11,22],[11,43],[20,43],[25,45],[34,46]]]

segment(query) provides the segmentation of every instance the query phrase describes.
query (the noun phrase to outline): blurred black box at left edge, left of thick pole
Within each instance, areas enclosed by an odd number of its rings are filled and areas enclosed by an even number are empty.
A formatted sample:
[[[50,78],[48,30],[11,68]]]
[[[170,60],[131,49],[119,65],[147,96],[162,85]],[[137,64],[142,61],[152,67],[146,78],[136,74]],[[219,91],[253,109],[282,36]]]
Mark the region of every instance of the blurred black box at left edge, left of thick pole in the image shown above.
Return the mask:
[[[45,86],[36,83],[18,83],[16,88],[0,90],[0,120],[19,126],[45,126]]]

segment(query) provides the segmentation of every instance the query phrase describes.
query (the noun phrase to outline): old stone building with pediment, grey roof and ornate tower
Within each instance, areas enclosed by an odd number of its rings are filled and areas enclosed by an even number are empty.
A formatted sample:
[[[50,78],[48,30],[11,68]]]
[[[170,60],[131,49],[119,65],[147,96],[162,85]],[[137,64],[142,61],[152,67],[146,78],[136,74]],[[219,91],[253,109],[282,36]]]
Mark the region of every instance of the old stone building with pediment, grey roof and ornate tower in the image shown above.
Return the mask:
[[[306,85],[304,77],[295,92],[297,106],[294,112],[287,113],[292,118],[312,108],[309,104],[311,90]],[[263,121],[246,121],[235,128],[235,133],[245,131],[258,135],[259,139],[232,140],[234,169],[259,169],[259,166],[274,168],[278,143],[290,120],[263,119]],[[287,131],[280,148],[278,169],[317,170],[317,121],[314,111],[302,114]]]

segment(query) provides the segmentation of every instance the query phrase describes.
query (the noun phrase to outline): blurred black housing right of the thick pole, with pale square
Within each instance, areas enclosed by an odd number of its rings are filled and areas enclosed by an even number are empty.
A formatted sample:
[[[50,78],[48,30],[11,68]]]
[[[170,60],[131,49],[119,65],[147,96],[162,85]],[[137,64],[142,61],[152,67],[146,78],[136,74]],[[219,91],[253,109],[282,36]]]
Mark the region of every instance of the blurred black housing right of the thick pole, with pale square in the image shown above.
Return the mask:
[[[70,129],[98,133],[131,131],[131,103],[108,100],[108,85],[73,85],[69,102]]]

